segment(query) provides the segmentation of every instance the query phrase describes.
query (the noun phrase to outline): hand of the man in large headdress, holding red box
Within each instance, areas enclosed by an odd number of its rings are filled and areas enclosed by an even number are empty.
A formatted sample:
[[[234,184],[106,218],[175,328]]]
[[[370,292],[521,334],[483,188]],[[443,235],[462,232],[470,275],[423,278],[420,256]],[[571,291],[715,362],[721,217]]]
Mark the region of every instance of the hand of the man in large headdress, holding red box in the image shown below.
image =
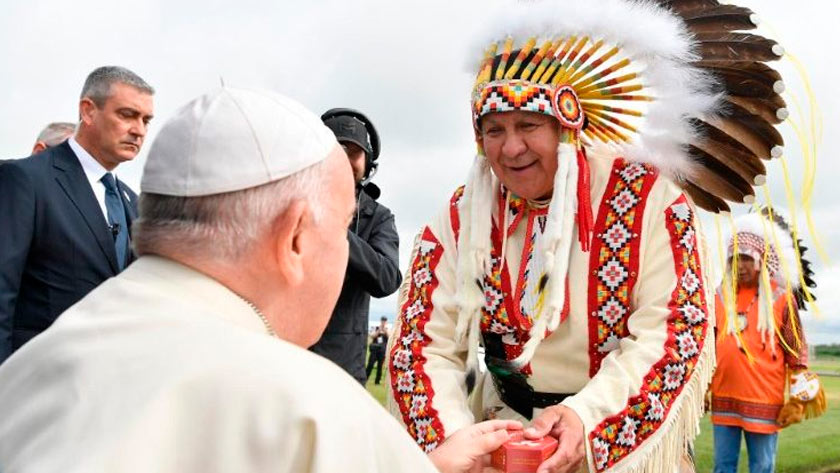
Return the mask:
[[[583,422],[566,406],[558,404],[547,408],[524,433],[525,438],[536,440],[551,435],[560,442],[557,451],[540,464],[537,473],[572,473],[586,459]]]

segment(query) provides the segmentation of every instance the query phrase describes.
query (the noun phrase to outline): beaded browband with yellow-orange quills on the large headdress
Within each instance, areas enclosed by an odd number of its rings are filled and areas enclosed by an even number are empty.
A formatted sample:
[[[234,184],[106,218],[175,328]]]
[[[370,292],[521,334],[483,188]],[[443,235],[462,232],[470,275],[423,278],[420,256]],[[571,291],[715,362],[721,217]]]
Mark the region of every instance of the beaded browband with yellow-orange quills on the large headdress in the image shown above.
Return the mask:
[[[536,37],[529,38],[512,61],[512,37],[501,54],[498,43],[487,49],[473,88],[476,126],[488,113],[521,110],[555,117],[572,130],[588,122],[583,134],[590,140],[630,142],[638,132],[630,121],[641,118],[643,103],[653,100],[637,94],[644,86],[637,72],[628,71],[630,59],[618,59],[618,47],[601,51],[604,42],[589,37],[546,40],[535,50],[536,44]]]

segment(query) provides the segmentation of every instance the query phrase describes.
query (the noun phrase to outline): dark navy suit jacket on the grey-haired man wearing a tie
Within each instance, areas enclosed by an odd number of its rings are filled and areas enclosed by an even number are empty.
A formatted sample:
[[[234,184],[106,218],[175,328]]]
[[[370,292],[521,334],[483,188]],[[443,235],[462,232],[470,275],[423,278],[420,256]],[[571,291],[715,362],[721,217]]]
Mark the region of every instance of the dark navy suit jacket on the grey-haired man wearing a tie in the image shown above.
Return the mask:
[[[117,186],[130,229],[137,195]],[[0,363],[118,269],[114,237],[67,142],[0,165]]]

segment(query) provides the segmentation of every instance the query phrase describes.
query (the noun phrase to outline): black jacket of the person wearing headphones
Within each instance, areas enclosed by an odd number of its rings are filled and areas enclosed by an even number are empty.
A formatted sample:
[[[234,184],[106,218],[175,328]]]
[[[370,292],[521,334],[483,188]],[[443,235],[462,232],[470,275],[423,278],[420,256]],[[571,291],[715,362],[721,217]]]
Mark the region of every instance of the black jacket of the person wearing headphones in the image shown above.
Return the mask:
[[[400,287],[399,244],[394,215],[364,191],[347,232],[350,258],[344,286],[327,329],[311,350],[365,383],[370,296],[385,297]]]

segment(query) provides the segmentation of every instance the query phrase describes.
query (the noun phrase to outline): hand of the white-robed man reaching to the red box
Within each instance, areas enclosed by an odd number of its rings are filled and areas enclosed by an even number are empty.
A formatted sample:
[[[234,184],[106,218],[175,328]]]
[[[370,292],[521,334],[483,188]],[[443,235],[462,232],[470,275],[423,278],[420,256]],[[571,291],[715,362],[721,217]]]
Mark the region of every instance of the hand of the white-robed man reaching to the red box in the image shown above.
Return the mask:
[[[430,453],[429,459],[441,473],[485,471],[488,454],[507,442],[507,431],[521,428],[522,424],[515,420],[489,420],[464,427]]]

